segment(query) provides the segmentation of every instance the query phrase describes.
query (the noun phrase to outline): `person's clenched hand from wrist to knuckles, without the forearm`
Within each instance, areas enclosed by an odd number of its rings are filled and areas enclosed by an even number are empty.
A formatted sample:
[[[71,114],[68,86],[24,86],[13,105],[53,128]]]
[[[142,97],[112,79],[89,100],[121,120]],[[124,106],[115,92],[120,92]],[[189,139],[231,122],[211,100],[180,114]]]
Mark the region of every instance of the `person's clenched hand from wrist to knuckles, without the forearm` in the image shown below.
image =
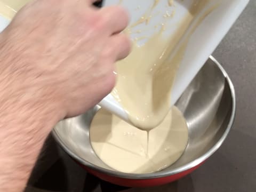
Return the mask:
[[[62,117],[70,117],[113,89],[114,62],[131,48],[119,33],[129,19],[120,7],[97,9],[94,2],[33,1],[4,30],[0,68],[19,97],[49,101]]]

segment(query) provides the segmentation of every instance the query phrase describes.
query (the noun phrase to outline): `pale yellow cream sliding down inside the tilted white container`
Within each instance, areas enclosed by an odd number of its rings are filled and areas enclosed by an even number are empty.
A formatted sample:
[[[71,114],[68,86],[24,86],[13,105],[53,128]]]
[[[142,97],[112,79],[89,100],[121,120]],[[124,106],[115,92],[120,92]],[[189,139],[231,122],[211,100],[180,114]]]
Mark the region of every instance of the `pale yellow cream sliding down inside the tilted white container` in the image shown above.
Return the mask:
[[[154,1],[152,9],[157,3],[159,1]],[[169,38],[162,36],[163,24],[162,30],[148,38],[144,45],[138,46],[134,41],[131,54],[116,63],[117,84],[112,95],[121,103],[132,124],[139,129],[153,129],[170,110],[173,82],[191,35],[185,34],[195,16],[207,3],[209,0],[195,1]],[[145,13],[126,32],[133,33],[133,27],[145,24],[149,15]],[[180,43],[181,38],[183,43]]]

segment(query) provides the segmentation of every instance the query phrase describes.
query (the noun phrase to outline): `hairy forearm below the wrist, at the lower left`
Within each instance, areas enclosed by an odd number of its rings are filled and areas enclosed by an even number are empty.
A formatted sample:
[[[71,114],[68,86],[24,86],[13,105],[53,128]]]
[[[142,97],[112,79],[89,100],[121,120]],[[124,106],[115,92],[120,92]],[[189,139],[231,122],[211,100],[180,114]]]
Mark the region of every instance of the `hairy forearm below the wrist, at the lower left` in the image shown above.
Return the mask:
[[[38,89],[21,89],[22,82],[17,86],[11,74],[4,76],[0,83],[0,191],[22,191],[61,113],[51,92],[38,85]]]

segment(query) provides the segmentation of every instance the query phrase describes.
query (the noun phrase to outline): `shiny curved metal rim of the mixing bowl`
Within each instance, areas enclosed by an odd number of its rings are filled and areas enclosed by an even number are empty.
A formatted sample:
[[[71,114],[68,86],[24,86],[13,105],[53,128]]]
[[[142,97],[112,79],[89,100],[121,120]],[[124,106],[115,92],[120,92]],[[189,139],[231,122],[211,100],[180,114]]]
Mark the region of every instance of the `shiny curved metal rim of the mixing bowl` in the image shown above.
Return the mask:
[[[225,141],[225,139],[227,138],[227,135],[231,129],[231,127],[234,124],[234,120],[235,120],[235,115],[236,115],[236,96],[235,96],[235,88],[234,85],[230,79],[230,77],[228,76],[226,70],[221,66],[221,64],[213,57],[210,56],[209,57],[210,60],[212,60],[217,66],[218,68],[221,70],[221,73],[223,74],[223,76],[226,78],[226,81],[229,85],[229,89],[231,92],[231,115],[230,115],[230,119],[229,119],[229,123],[227,125],[227,129],[225,130],[225,132],[223,133],[223,135],[221,136],[221,138],[219,139],[219,141],[217,143],[215,143],[215,145],[208,150],[205,154],[203,154],[202,156],[194,159],[194,161],[191,161],[181,167],[178,167],[177,169],[174,170],[169,170],[169,171],[162,171],[162,172],[154,172],[154,173],[143,173],[143,174],[139,174],[139,173],[123,173],[123,172],[119,172],[119,171],[113,171],[113,170],[108,170],[105,168],[102,168],[100,166],[94,165],[90,162],[85,161],[84,159],[82,159],[81,157],[77,156],[76,154],[73,153],[73,151],[71,151],[66,145],[65,143],[63,143],[61,141],[61,139],[58,136],[58,133],[53,129],[52,130],[52,135],[54,137],[54,139],[59,143],[59,145],[61,146],[61,148],[66,151],[66,153],[71,156],[72,158],[75,159],[75,161],[81,163],[84,166],[89,167],[92,170],[95,171],[99,171],[101,173],[105,173],[108,174],[110,176],[113,177],[117,177],[117,178],[123,178],[123,179],[156,179],[156,178],[162,178],[162,177],[168,177],[170,175],[175,175],[190,169],[193,169],[193,167],[196,167],[197,165],[203,163],[204,161],[206,161],[207,158],[209,158],[213,153],[215,153],[215,151],[217,151],[220,146],[222,145],[222,143]]]

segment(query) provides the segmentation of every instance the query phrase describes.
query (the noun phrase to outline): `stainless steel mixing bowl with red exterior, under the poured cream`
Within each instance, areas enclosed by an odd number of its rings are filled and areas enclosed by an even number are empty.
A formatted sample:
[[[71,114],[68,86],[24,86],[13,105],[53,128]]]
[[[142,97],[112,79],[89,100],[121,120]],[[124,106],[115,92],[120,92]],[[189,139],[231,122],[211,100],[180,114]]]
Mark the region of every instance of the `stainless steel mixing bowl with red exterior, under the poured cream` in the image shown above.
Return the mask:
[[[89,128],[98,106],[61,121],[54,127],[53,135],[77,163],[103,180],[131,187],[162,185],[195,170],[221,146],[235,118],[234,86],[221,65],[210,57],[175,105],[187,120],[188,146],[177,162],[155,173],[118,172],[95,155]]]

